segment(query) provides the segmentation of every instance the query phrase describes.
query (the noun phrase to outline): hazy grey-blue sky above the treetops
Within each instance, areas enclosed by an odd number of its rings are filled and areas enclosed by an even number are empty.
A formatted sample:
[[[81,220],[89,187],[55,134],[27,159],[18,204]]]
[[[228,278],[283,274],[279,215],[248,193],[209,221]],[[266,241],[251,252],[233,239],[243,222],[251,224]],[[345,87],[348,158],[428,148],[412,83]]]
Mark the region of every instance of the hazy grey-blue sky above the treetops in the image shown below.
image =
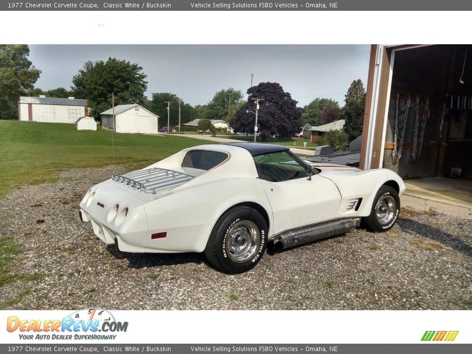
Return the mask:
[[[277,82],[303,107],[317,97],[344,105],[354,80],[364,87],[369,45],[29,45],[29,59],[42,71],[35,87],[70,89],[87,60],[129,60],[148,76],[146,95],[172,92],[192,106],[221,90],[246,93],[260,82]],[[87,97],[76,97],[87,98]]]

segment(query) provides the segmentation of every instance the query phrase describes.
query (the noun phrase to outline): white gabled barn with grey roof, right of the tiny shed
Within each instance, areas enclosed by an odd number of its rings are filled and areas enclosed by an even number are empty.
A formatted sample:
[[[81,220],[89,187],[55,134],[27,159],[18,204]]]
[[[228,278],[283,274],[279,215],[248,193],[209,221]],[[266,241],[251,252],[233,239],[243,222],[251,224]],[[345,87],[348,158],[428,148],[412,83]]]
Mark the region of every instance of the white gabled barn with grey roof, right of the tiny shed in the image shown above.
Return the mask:
[[[115,113],[116,126],[113,124]],[[113,130],[117,133],[157,134],[159,131],[159,116],[149,112],[139,104],[115,106],[100,113],[102,129]]]

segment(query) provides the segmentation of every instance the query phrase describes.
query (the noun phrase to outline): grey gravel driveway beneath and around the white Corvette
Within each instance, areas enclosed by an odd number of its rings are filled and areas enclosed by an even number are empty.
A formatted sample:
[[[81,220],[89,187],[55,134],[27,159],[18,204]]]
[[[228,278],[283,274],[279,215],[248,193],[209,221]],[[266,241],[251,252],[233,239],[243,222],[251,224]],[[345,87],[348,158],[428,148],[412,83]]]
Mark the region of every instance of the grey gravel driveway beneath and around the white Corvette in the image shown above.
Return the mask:
[[[240,275],[212,269],[203,254],[107,249],[78,204],[92,184],[132,169],[68,170],[0,200],[2,247],[13,249],[0,308],[472,309],[472,220],[434,212],[402,209],[385,234],[355,230],[269,251]]]

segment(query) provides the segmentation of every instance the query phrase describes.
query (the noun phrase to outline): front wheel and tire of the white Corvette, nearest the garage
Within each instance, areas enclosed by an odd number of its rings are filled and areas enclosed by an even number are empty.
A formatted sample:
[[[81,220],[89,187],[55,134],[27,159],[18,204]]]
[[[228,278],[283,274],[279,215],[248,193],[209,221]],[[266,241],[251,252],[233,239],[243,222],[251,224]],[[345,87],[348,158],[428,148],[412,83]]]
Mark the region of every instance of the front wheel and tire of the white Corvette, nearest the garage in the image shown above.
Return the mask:
[[[375,195],[370,215],[362,219],[370,231],[386,232],[390,230],[400,213],[400,197],[392,187],[383,185]]]

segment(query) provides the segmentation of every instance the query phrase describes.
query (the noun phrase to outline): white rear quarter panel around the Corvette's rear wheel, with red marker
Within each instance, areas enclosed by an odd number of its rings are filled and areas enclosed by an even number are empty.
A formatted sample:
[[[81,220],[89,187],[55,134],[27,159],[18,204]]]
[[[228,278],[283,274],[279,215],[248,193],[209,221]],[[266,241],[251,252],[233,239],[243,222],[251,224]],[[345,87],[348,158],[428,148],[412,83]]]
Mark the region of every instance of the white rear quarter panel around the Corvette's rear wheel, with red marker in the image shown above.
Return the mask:
[[[219,217],[243,202],[264,207],[272,219],[266,194],[257,178],[232,178],[178,190],[144,207],[148,217],[146,252],[203,252]],[[166,232],[166,238],[151,239]],[[270,231],[269,231],[270,235]]]

